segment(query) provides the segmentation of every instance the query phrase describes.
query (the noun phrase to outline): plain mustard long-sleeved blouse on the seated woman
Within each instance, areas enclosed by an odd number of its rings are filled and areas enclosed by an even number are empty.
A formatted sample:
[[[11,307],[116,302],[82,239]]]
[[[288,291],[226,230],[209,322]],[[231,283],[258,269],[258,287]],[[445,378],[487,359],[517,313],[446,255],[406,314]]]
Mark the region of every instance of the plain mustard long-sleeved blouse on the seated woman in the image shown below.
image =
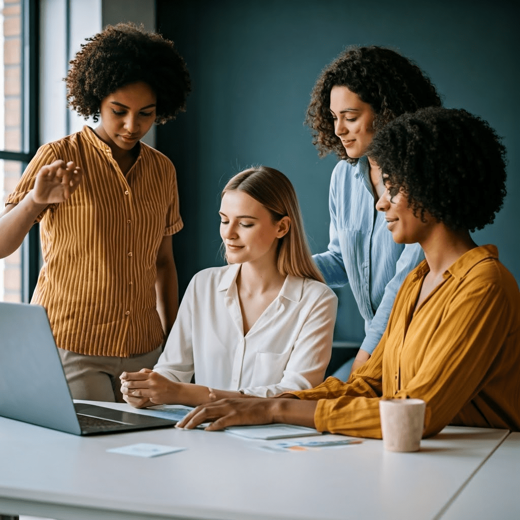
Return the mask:
[[[520,293],[493,245],[461,256],[415,311],[428,272],[402,284],[385,333],[346,383],[292,392],[318,400],[319,431],[381,438],[381,397],[426,401],[424,436],[447,424],[520,430]]]

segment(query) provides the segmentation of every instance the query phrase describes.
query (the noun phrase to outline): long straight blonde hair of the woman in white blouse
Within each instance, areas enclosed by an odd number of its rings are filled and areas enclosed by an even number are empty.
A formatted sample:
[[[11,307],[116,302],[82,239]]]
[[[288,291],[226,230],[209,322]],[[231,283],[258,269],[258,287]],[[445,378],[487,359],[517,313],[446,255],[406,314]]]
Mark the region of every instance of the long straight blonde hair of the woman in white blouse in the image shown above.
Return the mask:
[[[279,239],[277,267],[281,275],[311,278],[323,282],[321,272],[310,255],[300,205],[291,181],[283,173],[267,166],[252,166],[232,177],[222,190],[240,190],[261,203],[273,222],[288,216],[289,231]]]

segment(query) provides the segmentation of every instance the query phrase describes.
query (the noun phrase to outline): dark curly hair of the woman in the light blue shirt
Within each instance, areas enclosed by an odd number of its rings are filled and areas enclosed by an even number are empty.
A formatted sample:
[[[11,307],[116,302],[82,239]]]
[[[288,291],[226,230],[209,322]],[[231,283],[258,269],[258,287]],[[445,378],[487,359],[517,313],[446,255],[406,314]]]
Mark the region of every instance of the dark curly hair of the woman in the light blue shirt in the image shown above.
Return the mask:
[[[442,104],[435,86],[412,60],[385,47],[348,47],[318,76],[305,124],[313,132],[313,144],[320,157],[335,152],[350,164],[356,164],[358,159],[348,157],[334,133],[330,113],[334,86],[345,86],[369,103],[375,113],[375,131],[400,114]]]

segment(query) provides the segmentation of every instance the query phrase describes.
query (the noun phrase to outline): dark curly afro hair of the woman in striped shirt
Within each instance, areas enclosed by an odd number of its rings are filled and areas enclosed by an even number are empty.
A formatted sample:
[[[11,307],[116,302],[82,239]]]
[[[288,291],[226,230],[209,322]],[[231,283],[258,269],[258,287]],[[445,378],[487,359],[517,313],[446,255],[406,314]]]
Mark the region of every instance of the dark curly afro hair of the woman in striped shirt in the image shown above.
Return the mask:
[[[107,25],[86,40],[65,78],[68,106],[85,119],[94,116],[97,122],[101,100],[138,81],[147,83],[157,96],[156,123],[186,110],[190,77],[173,42],[133,23]]]

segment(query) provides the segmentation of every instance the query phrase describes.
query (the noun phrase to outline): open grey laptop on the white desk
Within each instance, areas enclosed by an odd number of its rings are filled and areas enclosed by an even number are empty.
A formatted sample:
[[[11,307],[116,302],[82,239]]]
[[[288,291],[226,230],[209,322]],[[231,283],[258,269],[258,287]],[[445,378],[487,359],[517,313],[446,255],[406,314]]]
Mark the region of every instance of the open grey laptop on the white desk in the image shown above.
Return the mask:
[[[0,302],[0,415],[75,435],[174,426],[176,420],[74,403],[40,305]]]

